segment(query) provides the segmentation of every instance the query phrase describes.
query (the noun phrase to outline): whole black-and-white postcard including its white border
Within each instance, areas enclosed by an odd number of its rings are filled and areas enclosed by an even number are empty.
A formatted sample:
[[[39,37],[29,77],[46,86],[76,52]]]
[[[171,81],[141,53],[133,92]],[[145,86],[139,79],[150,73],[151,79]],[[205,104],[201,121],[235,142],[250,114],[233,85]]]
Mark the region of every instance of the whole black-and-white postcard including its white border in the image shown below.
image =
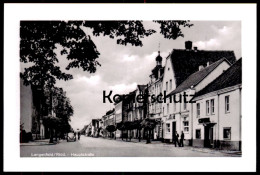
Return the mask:
[[[5,4],[6,163],[254,171],[254,7]]]

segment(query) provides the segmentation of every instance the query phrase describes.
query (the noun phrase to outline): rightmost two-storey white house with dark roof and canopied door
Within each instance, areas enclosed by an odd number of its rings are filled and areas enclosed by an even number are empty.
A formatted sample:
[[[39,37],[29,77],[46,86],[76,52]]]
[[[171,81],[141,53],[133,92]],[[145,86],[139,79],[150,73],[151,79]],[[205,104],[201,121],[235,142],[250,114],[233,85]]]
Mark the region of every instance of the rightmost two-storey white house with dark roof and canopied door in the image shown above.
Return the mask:
[[[193,104],[193,146],[241,150],[242,59],[199,91]]]

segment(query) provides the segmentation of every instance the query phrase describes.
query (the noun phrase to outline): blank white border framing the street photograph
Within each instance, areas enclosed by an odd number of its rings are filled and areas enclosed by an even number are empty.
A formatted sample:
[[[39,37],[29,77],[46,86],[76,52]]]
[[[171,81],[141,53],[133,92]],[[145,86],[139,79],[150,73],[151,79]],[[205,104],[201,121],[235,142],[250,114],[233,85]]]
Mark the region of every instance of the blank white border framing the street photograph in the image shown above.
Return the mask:
[[[20,20],[241,20],[241,158],[20,158]],[[256,171],[255,4],[5,4],[4,171]],[[59,167],[62,167],[59,168]],[[149,168],[148,168],[149,167]]]

